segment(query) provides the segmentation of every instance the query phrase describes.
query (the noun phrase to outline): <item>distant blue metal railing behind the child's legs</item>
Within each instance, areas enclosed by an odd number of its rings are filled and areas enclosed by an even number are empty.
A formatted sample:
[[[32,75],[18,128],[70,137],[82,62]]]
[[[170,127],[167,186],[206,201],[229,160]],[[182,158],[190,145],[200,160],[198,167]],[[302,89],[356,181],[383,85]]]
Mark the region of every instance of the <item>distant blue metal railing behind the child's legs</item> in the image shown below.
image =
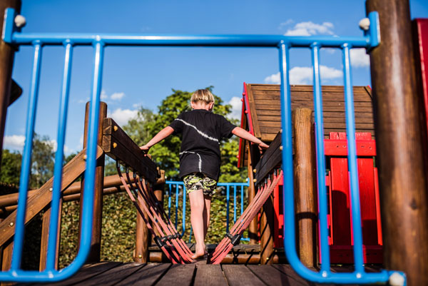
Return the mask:
[[[186,190],[183,182],[167,180],[165,182],[167,185],[166,193],[168,194],[168,218],[171,218],[171,214],[173,214],[173,221],[175,224],[175,229],[178,231],[181,230],[181,235],[183,236],[186,233],[186,226],[190,225],[190,216],[186,215]],[[226,208],[226,232],[229,232],[230,226],[230,188],[233,188],[233,223],[236,223],[237,220],[237,212],[239,211],[239,215],[243,214],[244,211],[244,196],[245,196],[245,188],[248,188],[249,183],[218,183],[218,187],[225,187],[225,208]],[[238,194],[239,192],[239,194]],[[219,196],[220,194],[216,194]],[[239,197],[239,198],[238,198]],[[239,202],[238,202],[239,199]],[[173,205],[173,213],[171,213],[171,207]],[[181,204],[180,204],[181,202]],[[239,209],[239,210],[238,210]],[[180,230],[178,229],[178,221],[181,218]],[[186,223],[186,218],[188,218]],[[192,238],[192,228],[190,227],[189,232],[190,242]],[[241,238],[243,241],[250,241],[250,238]]]

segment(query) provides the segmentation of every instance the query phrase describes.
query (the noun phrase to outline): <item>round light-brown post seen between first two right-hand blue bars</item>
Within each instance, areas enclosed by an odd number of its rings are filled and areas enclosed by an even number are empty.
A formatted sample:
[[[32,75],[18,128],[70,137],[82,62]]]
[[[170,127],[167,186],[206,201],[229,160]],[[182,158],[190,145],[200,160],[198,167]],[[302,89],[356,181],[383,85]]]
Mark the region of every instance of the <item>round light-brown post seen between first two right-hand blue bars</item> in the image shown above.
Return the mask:
[[[297,253],[304,265],[314,267],[317,257],[317,195],[312,111],[309,108],[296,108],[292,111],[292,123]]]

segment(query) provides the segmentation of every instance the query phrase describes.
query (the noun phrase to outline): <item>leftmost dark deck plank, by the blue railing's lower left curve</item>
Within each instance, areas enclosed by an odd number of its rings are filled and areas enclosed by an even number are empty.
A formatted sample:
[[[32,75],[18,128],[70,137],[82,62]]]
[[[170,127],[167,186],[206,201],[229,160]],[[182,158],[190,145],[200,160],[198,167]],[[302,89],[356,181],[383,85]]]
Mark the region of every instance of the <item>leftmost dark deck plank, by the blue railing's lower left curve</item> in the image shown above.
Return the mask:
[[[76,285],[78,283],[81,283],[81,285],[86,285],[86,280],[91,279],[91,277],[94,277],[96,275],[101,275],[103,272],[106,272],[112,269],[113,267],[117,267],[121,264],[121,262],[99,262],[91,265],[90,267],[82,268],[75,275],[71,276],[66,280],[49,283],[49,286],[67,286]]]

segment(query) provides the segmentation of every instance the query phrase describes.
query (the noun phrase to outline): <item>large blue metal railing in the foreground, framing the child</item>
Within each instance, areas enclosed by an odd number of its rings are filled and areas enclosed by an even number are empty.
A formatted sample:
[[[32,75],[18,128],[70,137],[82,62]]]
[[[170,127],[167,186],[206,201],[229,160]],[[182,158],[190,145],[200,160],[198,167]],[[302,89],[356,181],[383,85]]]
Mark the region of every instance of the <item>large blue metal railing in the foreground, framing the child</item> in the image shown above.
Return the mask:
[[[379,19],[377,13],[369,15],[370,29],[365,31],[364,36],[335,37],[335,36],[282,36],[282,35],[139,35],[139,34],[46,34],[46,33],[21,33],[14,24],[16,13],[14,9],[6,9],[4,17],[3,39],[6,43],[15,46],[34,46],[34,65],[31,76],[29,111],[26,121],[26,143],[21,167],[21,185],[19,189],[19,203],[16,215],[16,228],[14,238],[14,253],[12,256],[11,270],[0,272],[1,281],[16,282],[54,282],[63,280],[73,275],[86,261],[91,244],[91,228],[93,213],[93,183],[96,167],[96,138],[98,126],[98,108],[101,91],[101,74],[103,71],[103,51],[105,46],[223,46],[223,47],[272,47],[279,50],[279,63],[281,75],[281,110],[282,110],[282,164],[284,170],[284,223],[285,253],[290,265],[295,271],[307,280],[314,282],[330,283],[374,283],[386,282],[392,272],[382,270],[379,273],[366,273],[362,265],[362,230],[359,190],[357,183],[357,165],[355,156],[355,122],[353,113],[352,81],[350,69],[350,48],[373,48],[379,44]],[[73,46],[93,46],[93,81],[90,100],[87,163],[85,172],[85,198],[83,205],[82,231],[80,249],[76,259],[68,267],[55,270],[54,250],[56,238],[49,238],[48,253],[49,261],[46,270],[42,272],[24,271],[20,269],[22,244],[24,238],[24,218],[26,212],[26,197],[29,184],[29,170],[31,163],[32,139],[34,133],[34,121],[36,118],[37,93],[39,89],[39,75],[41,51],[43,46],[56,45],[65,48],[65,67],[61,90],[61,106],[58,124],[58,150],[56,158],[61,158],[63,152],[63,134],[66,128],[66,110],[68,107],[68,89],[70,83],[71,55]],[[316,122],[317,141],[317,170],[320,199],[320,238],[322,265],[320,272],[314,272],[304,265],[297,257],[295,249],[295,216],[293,197],[293,171],[292,171],[292,128],[291,128],[291,100],[289,82],[289,56],[290,48],[310,48],[312,51],[312,65],[314,78],[314,106]],[[325,158],[323,146],[323,123],[322,123],[322,97],[320,86],[319,51],[320,48],[340,48],[343,54],[343,68],[345,75],[345,111],[347,119],[348,140],[348,162],[350,170],[351,203],[352,203],[352,225],[354,240],[355,271],[350,273],[330,272],[329,246],[327,242],[327,196],[325,190]],[[57,163],[54,171],[55,182],[53,190],[52,208],[57,208],[58,195],[61,190],[61,169]],[[62,158],[61,158],[62,162]],[[235,215],[235,212],[234,212]],[[58,220],[58,213],[51,212],[51,220]],[[51,222],[49,233],[56,233],[58,225]],[[403,275],[394,272],[394,275]]]

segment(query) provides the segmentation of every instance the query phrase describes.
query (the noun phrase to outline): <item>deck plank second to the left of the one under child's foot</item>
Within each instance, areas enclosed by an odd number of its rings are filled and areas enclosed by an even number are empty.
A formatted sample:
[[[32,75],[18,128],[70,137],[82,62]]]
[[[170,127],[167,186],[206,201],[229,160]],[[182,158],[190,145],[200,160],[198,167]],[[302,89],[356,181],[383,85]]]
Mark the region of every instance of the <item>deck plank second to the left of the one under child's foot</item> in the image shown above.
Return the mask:
[[[117,286],[151,286],[161,279],[170,268],[170,263],[153,263],[140,268],[126,279],[118,282]]]

